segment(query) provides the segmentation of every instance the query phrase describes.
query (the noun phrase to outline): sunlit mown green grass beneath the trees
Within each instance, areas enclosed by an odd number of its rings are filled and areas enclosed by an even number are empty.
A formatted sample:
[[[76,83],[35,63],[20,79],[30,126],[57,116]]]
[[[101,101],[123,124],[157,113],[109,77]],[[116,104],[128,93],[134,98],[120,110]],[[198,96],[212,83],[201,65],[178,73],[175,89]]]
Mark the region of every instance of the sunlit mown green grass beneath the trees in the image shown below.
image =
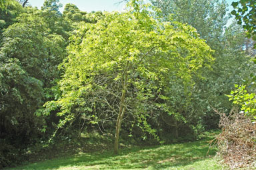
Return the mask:
[[[209,151],[207,137],[200,141],[159,145],[155,147],[133,147],[123,149],[119,155],[112,151],[95,153],[79,153],[61,159],[53,159],[39,163],[32,163],[14,169],[226,169],[214,155],[216,149]],[[65,148],[63,148],[65,149]]]

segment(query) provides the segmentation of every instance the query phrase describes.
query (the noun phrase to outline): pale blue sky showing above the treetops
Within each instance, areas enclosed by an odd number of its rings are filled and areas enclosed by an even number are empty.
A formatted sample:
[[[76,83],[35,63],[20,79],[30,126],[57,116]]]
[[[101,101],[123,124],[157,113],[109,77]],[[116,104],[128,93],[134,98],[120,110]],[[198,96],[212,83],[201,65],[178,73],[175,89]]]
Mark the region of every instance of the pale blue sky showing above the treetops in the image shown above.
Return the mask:
[[[63,8],[67,3],[73,3],[77,5],[77,7],[81,11],[122,11],[125,3],[119,3],[123,0],[60,0],[60,3],[63,4],[63,7],[60,11],[63,11]],[[226,0],[229,5],[231,5],[232,1],[237,0]],[[149,2],[149,0],[147,0]],[[29,0],[29,3],[33,7],[38,7],[39,9],[43,5],[43,0]]]

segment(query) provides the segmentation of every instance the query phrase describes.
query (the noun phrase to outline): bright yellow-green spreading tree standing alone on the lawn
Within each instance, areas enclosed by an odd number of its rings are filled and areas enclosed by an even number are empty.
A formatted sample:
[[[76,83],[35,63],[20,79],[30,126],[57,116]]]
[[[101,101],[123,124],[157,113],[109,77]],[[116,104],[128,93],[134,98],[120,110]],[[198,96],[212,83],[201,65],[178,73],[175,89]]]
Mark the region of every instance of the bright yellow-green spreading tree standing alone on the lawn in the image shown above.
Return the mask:
[[[125,115],[157,138],[147,117],[169,77],[180,77],[189,86],[191,75],[213,61],[193,27],[153,19],[155,13],[141,1],[129,5],[127,12],[105,13],[95,25],[81,23],[63,63],[62,95],[43,111],[49,115],[59,109],[59,128],[81,115],[89,123],[114,117],[115,153]]]

